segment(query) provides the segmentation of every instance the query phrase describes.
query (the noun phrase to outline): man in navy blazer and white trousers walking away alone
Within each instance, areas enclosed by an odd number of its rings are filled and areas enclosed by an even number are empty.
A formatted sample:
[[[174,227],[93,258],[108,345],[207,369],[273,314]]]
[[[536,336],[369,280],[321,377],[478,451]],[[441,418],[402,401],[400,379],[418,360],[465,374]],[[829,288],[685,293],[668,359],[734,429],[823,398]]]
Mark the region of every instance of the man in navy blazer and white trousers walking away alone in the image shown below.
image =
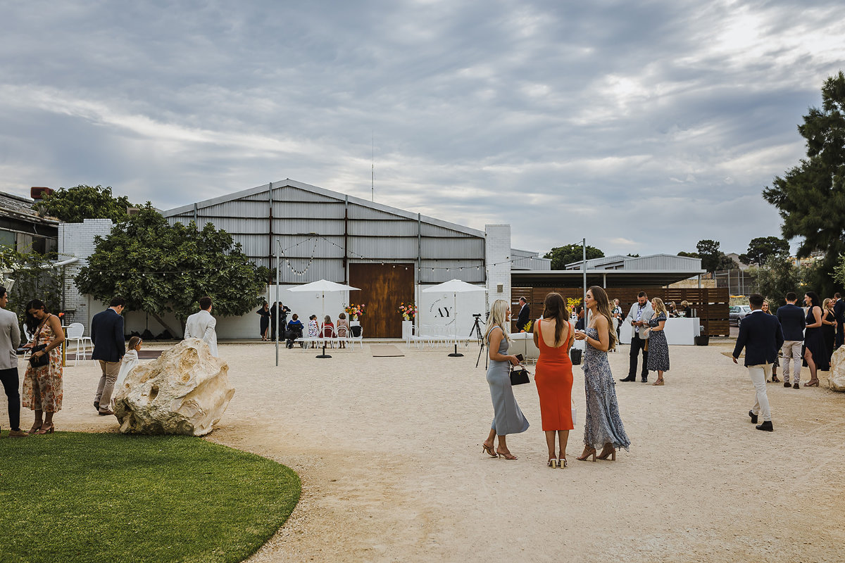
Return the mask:
[[[771,409],[769,398],[766,396],[766,379],[771,376],[771,365],[777,361],[777,349],[783,345],[783,332],[777,317],[766,315],[762,311],[763,296],[759,293],[751,294],[748,298],[751,312],[739,323],[737,345],[733,348],[733,363],[745,349],[745,367],[754,383],[757,392],[757,402],[748,411],[753,424],[757,423],[757,416],[763,415],[763,423],[757,425],[757,430],[774,430],[771,426]]]

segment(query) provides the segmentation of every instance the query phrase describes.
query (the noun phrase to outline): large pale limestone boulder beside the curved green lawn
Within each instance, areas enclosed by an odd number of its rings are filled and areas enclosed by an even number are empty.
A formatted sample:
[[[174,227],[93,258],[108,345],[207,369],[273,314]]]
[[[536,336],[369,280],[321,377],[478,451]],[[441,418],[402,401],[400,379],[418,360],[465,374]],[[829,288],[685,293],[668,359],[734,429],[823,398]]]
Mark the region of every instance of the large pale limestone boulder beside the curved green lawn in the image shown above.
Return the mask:
[[[235,388],[229,365],[199,338],[188,338],[135,366],[116,393],[114,414],[125,434],[204,436],[220,422]]]

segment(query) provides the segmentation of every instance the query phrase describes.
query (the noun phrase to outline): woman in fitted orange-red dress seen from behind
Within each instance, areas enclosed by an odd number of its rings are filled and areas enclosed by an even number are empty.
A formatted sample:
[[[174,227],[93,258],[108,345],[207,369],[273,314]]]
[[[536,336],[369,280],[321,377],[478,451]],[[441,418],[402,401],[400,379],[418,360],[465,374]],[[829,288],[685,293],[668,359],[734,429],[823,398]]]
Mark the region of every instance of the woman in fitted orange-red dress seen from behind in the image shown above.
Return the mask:
[[[546,433],[548,467],[566,467],[566,442],[572,424],[572,362],[570,346],[573,332],[564,298],[559,293],[546,295],[542,319],[534,323],[534,344],[540,349],[537,360],[537,394],[540,395],[542,430]],[[554,452],[557,433],[560,450]]]

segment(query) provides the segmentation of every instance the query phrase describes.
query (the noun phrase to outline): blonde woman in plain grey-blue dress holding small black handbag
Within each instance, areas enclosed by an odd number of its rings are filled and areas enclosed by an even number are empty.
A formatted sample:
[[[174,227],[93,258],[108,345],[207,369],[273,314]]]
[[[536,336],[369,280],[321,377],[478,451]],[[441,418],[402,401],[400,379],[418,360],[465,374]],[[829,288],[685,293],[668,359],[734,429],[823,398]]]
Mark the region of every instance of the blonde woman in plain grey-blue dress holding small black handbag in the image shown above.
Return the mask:
[[[493,424],[487,440],[482,443],[483,452],[493,457],[516,459],[510,453],[506,442],[508,434],[519,434],[528,430],[528,421],[516,404],[514,390],[510,387],[510,365],[519,364],[515,355],[508,355],[510,337],[505,327],[510,327],[510,306],[503,299],[493,301],[490,317],[487,319],[487,346],[490,354],[490,367],[487,370],[487,382],[490,386],[490,398],[493,399]],[[499,436],[499,446],[493,451],[493,437]]]

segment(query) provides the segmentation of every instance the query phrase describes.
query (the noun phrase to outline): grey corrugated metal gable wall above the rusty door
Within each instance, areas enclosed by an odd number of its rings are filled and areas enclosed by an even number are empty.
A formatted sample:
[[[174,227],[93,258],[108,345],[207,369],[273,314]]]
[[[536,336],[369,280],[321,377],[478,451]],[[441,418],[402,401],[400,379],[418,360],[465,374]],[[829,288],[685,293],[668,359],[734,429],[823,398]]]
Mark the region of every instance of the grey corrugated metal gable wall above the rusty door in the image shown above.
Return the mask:
[[[421,284],[455,278],[472,284],[485,281],[482,236],[424,219],[418,223],[398,209],[390,213],[290,185],[274,185],[270,202],[270,186],[264,188],[229,201],[199,204],[195,211],[183,211],[168,221],[187,225],[195,216],[200,227],[211,223],[226,230],[256,264],[268,268],[275,268],[273,241],[279,241],[281,284],[318,279],[343,283],[352,261],[415,263]]]

